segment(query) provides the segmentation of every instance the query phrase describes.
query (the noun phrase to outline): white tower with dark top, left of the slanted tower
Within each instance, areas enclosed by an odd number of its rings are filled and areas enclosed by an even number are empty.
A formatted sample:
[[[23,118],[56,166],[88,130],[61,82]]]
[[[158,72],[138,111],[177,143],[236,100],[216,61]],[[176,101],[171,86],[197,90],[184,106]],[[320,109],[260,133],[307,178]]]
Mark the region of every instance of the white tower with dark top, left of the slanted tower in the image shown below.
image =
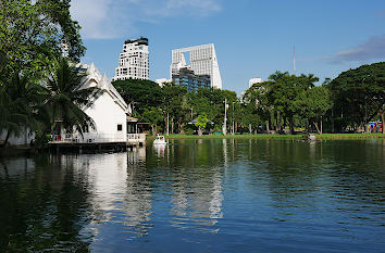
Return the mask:
[[[127,39],[120,53],[119,66],[112,80],[149,79],[148,39]]]

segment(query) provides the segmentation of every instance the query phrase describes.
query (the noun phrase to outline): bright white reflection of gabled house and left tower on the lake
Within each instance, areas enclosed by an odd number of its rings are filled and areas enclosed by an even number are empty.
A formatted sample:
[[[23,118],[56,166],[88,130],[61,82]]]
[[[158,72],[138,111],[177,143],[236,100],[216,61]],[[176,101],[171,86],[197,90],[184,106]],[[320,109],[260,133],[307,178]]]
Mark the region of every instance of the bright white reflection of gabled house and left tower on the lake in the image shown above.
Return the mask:
[[[121,226],[125,240],[147,235],[151,214],[151,190],[146,175],[146,148],[127,153],[82,154],[62,159],[87,172],[94,215],[85,230],[96,241],[103,229]],[[67,164],[66,164],[67,166]]]

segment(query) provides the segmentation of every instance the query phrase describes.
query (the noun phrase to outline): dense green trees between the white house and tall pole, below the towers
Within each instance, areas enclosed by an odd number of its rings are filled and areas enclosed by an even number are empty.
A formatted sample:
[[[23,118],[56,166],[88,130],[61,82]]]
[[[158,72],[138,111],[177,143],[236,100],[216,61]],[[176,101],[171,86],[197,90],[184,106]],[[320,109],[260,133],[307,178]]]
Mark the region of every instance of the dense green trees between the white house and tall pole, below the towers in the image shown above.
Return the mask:
[[[197,91],[187,92],[187,89],[173,84],[165,84],[162,88],[150,80],[128,79],[117,80],[113,86],[127,103],[134,104],[134,116],[140,121],[148,121],[154,130],[156,123],[163,126],[166,132],[183,132],[186,125],[198,115],[207,115],[214,123],[215,129],[222,129],[224,118],[224,100],[239,110],[237,96],[234,91],[212,88],[199,88]],[[154,109],[159,109],[158,111]],[[154,112],[161,114],[163,121],[154,117]],[[229,106],[232,112],[232,106]],[[233,119],[239,118],[239,113],[229,114]],[[157,119],[153,119],[157,118]]]

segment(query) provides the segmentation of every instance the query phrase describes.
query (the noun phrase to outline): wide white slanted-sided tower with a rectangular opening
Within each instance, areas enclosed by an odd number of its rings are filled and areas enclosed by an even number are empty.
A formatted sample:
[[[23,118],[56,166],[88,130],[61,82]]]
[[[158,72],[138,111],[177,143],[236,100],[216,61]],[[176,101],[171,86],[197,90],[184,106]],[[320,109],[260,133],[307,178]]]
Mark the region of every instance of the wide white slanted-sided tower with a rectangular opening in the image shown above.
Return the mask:
[[[189,62],[186,62],[186,54],[189,54],[187,56]],[[179,69],[186,67],[191,69],[195,75],[209,75],[211,87],[222,89],[222,78],[213,43],[173,50],[170,67],[171,79],[173,75],[179,74]]]

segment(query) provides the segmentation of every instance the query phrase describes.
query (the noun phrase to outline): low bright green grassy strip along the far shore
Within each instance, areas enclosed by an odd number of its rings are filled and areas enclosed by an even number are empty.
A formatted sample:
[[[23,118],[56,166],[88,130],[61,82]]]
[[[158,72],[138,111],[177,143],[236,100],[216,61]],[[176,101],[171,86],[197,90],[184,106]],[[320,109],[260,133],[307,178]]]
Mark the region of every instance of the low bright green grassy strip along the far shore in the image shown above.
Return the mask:
[[[164,135],[165,136],[165,135]],[[302,134],[298,135],[170,135],[166,139],[276,139],[276,140],[293,140],[302,139]],[[339,140],[339,139],[378,139],[385,138],[384,134],[322,134],[315,135],[316,139],[321,140]],[[156,139],[157,136],[147,136],[147,139]]]

